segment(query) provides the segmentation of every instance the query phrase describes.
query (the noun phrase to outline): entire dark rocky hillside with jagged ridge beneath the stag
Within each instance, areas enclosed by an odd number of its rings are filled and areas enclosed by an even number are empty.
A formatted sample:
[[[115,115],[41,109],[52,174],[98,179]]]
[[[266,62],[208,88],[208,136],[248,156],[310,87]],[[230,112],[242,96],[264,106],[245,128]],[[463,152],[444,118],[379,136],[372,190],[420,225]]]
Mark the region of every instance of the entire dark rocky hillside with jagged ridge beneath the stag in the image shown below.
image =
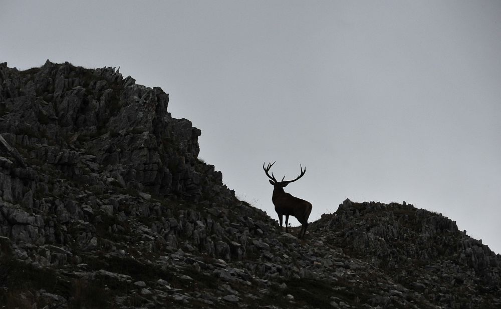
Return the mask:
[[[298,239],[168,103],[115,68],[0,64],[0,308],[501,308],[501,256],[454,221],[347,199]]]

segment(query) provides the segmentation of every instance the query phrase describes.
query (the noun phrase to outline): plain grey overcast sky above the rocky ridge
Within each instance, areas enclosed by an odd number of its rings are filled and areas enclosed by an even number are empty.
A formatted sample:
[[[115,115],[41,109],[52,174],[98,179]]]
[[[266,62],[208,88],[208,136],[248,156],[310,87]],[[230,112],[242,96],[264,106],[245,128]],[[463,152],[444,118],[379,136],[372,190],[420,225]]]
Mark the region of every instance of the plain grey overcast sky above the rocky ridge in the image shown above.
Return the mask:
[[[0,62],[119,67],[202,130],[200,158],[278,219],[411,203],[501,253],[501,2],[6,1]],[[298,221],[290,220],[293,225]]]

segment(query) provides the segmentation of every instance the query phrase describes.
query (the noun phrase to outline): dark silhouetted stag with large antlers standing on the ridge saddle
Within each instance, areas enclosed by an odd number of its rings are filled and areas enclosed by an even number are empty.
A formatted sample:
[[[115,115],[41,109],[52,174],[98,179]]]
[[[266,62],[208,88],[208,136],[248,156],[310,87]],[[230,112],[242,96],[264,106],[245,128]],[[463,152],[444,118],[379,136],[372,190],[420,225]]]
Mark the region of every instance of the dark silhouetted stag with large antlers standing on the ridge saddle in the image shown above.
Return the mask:
[[[275,161],[277,162],[277,161]],[[280,219],[280,228],[282,228],[282,218],[285,216],[285,231],[288,231],[289,224],[289,216],[295,216],[296,219],[301,223],[301,231],[299,232],[298,238],[302,238],[306,234],[306,229],[308,228],[308,218],[310,217],[310,213],[312,212],[312,204],[304,199],[300,199],[298,197],[292,196],[291,194],[284,191],[284,187],[303,177],[306,173],[306,166],[303,170],[303,166],[301,164],[299,167],[301,168],[301,174],[293,180],[284,180],[277,181],[275,176],[270,176],[269,171],[272,168],[273,164],[268,163],[268,167],[265,167],[265,163],[263,163],[263,169],[265,170],[266,175],[270,178],[270,183],[273,185],[273,196],[272,202],[275,205],[275,211],[279,215]]]

